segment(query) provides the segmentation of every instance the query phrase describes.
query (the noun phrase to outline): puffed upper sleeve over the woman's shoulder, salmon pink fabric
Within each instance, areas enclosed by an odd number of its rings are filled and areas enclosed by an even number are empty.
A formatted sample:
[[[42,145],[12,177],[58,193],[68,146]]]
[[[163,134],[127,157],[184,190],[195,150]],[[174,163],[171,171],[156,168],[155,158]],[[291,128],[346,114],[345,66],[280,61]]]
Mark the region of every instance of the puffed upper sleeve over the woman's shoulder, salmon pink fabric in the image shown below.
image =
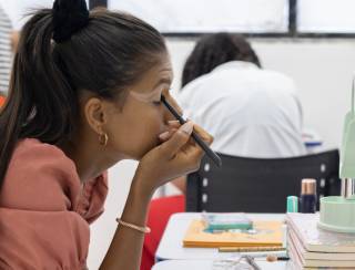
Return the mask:
[[[0,206],[31,210],[65,210],[80,190],[73,162],[54,145],[20,141],[1,188]]]

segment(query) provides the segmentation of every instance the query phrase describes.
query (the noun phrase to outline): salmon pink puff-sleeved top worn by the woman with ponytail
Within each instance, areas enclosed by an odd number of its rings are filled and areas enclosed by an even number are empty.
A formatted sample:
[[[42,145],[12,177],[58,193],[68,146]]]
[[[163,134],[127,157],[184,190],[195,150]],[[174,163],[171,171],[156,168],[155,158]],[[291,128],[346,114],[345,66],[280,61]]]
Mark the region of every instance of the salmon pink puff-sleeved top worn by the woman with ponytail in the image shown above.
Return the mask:
[[[0,191],[0,269],[85,269],[106,194],[105,173],[82,184],[60,148],[20,141]]]

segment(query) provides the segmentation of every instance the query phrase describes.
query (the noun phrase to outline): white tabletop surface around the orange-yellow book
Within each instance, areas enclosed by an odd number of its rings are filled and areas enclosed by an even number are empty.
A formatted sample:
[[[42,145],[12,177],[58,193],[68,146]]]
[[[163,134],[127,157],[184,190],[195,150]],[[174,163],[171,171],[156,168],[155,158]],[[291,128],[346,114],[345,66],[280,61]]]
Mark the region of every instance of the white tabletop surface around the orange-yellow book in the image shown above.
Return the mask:
[[[283,220],[283,214],[247,214],[253,220]],[[215,260],[230,258],[235,252],[219,252],[216,248],[184,248],[182,240],[193,219],[200,219],[201,214],[197,212],[180,212],[171,216],[162,240],[155,253],[155,261],[161,260]],[[247,252],[256,256],[254,252]],[[285,252],[267,252],[267,255],[285,256]],[[193,269],[193,268],[189,268]]]

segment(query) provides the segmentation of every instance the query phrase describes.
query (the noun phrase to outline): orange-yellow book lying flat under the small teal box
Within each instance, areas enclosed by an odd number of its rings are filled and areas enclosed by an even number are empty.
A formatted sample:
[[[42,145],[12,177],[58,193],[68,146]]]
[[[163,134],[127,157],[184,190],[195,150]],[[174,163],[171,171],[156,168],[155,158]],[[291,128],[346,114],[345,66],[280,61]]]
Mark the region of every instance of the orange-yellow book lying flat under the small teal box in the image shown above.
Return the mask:
[[[203,220],[193,220],[183,239],[184,247],[282,247],[281,221],[253,221],[253,230],[206,232]]]

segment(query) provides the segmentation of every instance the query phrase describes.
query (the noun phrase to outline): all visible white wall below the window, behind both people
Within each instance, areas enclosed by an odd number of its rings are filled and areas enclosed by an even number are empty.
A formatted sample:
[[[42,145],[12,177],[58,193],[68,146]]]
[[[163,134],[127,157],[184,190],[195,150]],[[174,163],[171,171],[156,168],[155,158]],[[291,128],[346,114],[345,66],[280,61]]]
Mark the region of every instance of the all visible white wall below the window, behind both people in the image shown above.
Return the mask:
[[[343,118],[351,104],[352,76],[355,71],[355,40],[256,39],[252,44],[266,69],[285,72],[300,89],[305,126],[323,137],[326,148],[341,142]],[[170,40],[175,72],[175,90],[192,40]],[[98,269],[124,205],[136,164],[124,162],[110,170],[106,211],[92,226],[89,269]]]

